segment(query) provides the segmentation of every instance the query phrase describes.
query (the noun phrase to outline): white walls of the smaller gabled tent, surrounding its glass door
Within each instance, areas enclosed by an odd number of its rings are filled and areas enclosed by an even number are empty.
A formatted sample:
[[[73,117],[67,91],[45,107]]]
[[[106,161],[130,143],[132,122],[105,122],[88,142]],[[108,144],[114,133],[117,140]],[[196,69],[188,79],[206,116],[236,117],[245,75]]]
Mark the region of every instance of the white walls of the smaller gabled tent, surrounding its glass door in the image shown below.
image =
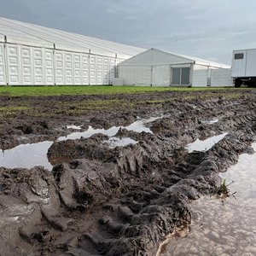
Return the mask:
[[[190,84],[172,84],[172,68],[190,67]],[[123,79],[125,85],[145,86],[231,86],[230,68],[207,67],[196,64],[175,65],[119,65],[118,78]]]

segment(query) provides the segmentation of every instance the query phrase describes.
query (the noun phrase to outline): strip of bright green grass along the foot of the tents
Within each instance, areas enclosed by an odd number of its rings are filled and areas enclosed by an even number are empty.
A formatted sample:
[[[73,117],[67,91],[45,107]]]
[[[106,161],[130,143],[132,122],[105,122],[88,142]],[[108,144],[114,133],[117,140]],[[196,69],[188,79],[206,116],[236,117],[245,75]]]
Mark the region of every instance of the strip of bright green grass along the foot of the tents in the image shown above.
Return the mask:
[[[114,95],[154,93],[159,91],[234,90],[234,88],[177,88],[144,86],[3,86],[0,96],[64,96],[64,95]]]

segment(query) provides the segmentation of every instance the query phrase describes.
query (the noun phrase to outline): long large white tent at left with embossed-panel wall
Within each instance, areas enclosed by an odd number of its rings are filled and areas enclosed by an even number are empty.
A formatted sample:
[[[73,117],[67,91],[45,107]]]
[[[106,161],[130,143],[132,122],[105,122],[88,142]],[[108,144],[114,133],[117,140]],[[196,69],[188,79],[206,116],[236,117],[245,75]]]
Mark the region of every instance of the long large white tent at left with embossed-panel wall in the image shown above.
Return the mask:
[[[0,85],[112,84],[144,49],[0,18]]]

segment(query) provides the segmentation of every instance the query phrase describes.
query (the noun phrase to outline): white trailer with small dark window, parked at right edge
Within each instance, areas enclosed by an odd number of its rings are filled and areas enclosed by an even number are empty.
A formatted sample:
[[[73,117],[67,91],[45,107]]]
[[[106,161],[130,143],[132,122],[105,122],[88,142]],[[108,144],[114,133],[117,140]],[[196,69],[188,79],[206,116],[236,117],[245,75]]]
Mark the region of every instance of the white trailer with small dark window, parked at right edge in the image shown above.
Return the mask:
[[[235,87],[240,87],[241,84],[256,86],[256,49],[233,51],[232,78]]]

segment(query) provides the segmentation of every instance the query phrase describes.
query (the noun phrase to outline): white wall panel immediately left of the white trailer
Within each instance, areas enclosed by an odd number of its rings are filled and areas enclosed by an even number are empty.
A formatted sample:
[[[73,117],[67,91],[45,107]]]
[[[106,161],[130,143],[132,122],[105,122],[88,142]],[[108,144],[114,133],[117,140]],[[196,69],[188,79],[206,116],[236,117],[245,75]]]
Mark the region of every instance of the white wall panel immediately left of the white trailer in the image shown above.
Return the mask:
[[[231,68],[220,68],[211,70],[211,86],[233,86]]]

